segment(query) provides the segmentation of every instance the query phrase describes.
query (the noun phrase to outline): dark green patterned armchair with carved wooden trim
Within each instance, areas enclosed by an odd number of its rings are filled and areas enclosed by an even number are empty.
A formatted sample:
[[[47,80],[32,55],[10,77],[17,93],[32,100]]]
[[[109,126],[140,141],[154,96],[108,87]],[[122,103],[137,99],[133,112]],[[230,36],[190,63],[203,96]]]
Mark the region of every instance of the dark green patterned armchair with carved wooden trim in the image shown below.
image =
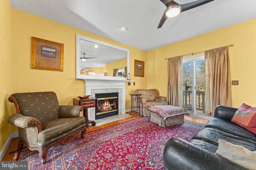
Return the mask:
[[[16,93],[8,98],[16,112],[8,122],[18,127],[18,151],[26,145],[38,150],[42,164],[48,149],[65,145],[81,133],[85,137],[85,118],[80,117],[80,106],[59,106],[54,92]]]

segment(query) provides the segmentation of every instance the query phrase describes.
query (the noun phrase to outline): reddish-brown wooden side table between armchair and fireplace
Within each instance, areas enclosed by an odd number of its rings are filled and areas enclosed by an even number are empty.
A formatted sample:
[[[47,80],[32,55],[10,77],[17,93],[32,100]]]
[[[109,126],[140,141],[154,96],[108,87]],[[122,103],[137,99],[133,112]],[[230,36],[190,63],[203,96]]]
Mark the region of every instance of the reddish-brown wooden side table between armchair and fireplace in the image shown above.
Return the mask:
[[[97,98],[84,98],[84,99],[74,98],[73,105],[83,107],[86,126],[88,126],[88,124],[91,124],[91,123],[92,123],[92,126],[96,125],[95,121],[88,119],[88,108],[98,107],[98,99]]]

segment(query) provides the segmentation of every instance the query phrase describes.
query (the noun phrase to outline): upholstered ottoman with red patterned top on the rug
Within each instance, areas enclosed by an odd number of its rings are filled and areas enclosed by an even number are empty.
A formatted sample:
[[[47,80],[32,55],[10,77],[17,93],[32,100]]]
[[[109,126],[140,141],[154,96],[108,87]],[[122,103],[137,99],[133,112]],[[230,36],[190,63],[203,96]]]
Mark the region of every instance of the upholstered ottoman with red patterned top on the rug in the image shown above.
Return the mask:
[[[189,115],[186,109],[171,105],[151,106],[148,110],[151,112],[150,121],[162,127],[183,124],[184,114]]]

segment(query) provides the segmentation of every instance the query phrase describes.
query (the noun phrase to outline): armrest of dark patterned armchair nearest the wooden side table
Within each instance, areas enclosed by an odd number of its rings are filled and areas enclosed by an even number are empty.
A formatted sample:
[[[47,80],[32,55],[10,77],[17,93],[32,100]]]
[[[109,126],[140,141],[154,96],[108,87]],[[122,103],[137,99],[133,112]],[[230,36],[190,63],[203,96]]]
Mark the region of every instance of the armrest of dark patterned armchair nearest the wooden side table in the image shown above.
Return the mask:
[[[60,106],[59,115],[60,118],[79,117],[80,111],[83,111],[81,106],[63,105]]]

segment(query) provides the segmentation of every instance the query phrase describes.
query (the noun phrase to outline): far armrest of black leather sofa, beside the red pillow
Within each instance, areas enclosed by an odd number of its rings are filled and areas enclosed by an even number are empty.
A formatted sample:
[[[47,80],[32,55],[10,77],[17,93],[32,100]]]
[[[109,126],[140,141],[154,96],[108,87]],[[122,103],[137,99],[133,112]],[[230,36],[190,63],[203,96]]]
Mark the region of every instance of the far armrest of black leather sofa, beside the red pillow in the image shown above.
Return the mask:
[[[214,110],[214,117],[222,118],[230,120],[234,116],[238,109],[234,107],[227,107],[227,106],[217,106]]]

